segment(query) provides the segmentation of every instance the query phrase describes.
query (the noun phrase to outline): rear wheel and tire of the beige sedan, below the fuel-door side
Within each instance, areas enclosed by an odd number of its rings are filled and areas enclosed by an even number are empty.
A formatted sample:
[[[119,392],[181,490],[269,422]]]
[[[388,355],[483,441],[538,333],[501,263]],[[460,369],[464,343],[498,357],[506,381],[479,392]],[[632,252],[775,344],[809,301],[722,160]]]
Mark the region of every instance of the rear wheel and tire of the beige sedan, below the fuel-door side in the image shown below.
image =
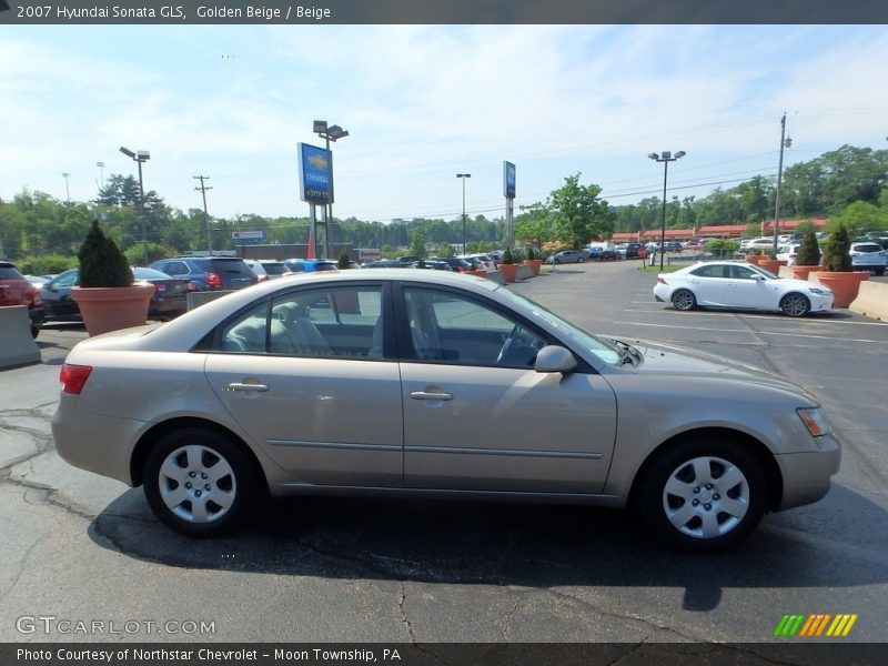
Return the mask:
[[[241,445],[203,428],[162,437],[148,454],[143,480],[154,515],[176,532],[196,537],[230,532],[255,506],[264,484]]]

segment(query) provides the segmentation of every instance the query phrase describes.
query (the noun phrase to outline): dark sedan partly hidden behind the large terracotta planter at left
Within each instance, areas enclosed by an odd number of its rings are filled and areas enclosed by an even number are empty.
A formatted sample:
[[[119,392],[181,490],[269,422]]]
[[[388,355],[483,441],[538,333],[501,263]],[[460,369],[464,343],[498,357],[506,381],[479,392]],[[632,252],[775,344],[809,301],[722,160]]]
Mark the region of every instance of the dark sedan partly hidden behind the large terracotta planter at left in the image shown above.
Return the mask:
[[[194,291],[191,281],[172,278],[161,271],[135,266],[132,269],[135,282],[154,285],[154,294],[148,306],[148,316],[169,319],[188,310],[188,292]],[[50,321],[82,321],[80,307],[71,297],[71,287],[78,285],[79,269],[71,269],[50,280],[41,290],[41,299],[46,306],[46,317]]]

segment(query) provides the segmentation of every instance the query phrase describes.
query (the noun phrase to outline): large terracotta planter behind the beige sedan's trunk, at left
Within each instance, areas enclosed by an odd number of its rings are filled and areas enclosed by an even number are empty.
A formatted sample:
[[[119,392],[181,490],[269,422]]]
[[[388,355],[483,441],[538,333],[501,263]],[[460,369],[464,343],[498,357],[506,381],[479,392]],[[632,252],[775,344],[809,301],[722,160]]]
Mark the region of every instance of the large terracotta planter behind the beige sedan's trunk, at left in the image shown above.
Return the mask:
[[[153,284],[71,289],[71,297],[80,307],[90,335],[141,326],[148,320],[148,306],[153,295]]]

